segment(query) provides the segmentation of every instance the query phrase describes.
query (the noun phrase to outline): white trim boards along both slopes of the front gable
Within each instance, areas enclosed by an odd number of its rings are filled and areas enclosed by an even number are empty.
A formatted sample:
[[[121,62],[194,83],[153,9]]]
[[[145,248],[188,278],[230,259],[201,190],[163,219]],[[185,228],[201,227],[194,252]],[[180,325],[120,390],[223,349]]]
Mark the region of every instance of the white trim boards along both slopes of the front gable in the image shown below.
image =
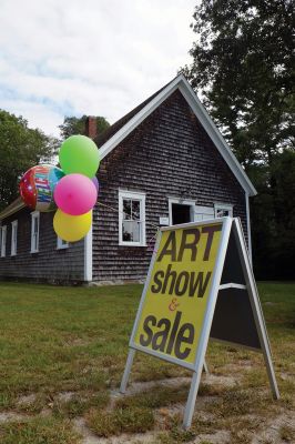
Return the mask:
[[[148,115],[150,115],[164,100],[169,98],[176,89],[181,91],[189,105],[193,110],[197,120],[206,131],[207,135],[217,148],[218,152],[232,170],[233,174],[248,195],[257,194],[245,171],[233,154],[231,148],[223,139],[208,113],[197,99],[192,87],[183,74],[177,75],[166,85],[156,97],[154,97],[142,110],[128,121],[111,139],[109,139],[100,149],[101,159],[105,158],[131,131],[133,131]]]

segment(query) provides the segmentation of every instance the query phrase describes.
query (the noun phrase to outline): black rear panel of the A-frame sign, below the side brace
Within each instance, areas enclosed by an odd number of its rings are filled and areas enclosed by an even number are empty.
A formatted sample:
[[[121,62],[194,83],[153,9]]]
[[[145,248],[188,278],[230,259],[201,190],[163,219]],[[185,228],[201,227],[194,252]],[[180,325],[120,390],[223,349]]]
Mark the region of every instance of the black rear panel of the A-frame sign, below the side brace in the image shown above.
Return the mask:
[[[218,291],[210,337],[261,350],[246,290]]]

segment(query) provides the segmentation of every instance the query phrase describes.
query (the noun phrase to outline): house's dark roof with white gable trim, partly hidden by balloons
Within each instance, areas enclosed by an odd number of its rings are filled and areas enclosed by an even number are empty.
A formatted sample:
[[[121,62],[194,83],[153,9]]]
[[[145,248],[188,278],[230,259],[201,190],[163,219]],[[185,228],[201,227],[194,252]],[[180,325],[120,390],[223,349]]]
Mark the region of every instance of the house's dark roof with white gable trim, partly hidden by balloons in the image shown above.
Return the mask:
[[[231,148],[223,139],[221,132],[210,118],[205,108],[202,105],[183,74],[175,77],[171,82],[149,97],[141,104],[122,117],[94,139],[100,149],[101,159],[105,158],[123,139],[131,133],[131,131],[133,131],[145,118],[148,118],[148,115],[150,115],[157,107],[160,107],[160,104],[163,103],[164,100],[166,100],[176,89],[181,91],[187,101],[200,123],[213,141],[214,145],[232,170],[242,188],[245,190],[245,193],[248,195],[257,194],[255,188],[238,163]],[[22,203],[21,199],[18,198],[0,213],[0,220],[13,214],[23,206],[24,204]]]

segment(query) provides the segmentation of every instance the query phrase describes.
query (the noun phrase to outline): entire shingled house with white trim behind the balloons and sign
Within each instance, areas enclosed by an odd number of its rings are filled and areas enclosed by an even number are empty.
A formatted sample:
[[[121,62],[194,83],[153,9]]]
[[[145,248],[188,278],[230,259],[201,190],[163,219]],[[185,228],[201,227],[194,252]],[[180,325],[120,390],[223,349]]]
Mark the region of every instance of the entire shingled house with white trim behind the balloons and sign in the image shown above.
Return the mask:
[[[221,215],[241,218],[251,253],[256,191],[182,74],[94,141],[102,161],[91,232],[67,244],[53,213],[14,201],[0,214],[0,279],[143,280],[159,226]]]

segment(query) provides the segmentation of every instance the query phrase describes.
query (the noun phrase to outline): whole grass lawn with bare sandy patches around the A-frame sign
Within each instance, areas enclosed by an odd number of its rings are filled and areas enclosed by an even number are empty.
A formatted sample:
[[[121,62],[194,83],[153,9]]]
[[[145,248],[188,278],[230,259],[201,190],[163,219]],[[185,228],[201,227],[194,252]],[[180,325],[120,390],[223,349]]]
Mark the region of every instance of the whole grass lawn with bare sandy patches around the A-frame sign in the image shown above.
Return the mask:
[[[98,443],[122,433],[129,437],[119,442],[139,443],[133,434],[148,431],[149,442],[162,444],[246,444],[255,435],[263,444],[294,442],[295,284],[260,283],[258,290],[282,398],[272,401],[262,355],[211,343],[211,375],[203,379],[193,426],[183,432],[191,372],[138,353],[131,383],[140,389],[114,395],[141,285],[1,283],[0,443],[87,443],[85,430]],[[161,384],[167,379],[171,384]],[[159,383],[144,384],[150,381]],[[281,441],[272,441],[272,425]]]

